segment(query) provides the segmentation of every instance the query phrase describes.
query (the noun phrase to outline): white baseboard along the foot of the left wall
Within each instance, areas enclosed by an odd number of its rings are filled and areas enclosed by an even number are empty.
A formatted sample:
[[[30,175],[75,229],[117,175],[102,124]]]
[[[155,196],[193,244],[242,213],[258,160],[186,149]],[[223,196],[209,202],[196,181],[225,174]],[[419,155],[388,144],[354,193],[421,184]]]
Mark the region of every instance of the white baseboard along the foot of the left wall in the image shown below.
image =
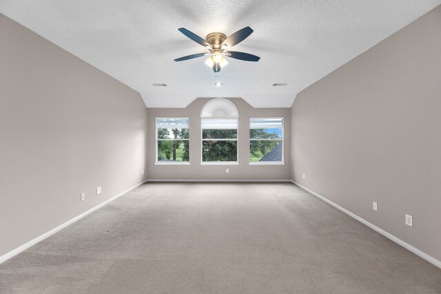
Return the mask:
[[[26,249],[30,248],[31,246],[34,246],[38,242],[41,242],[41,241],[45,240],[45,238],[48,238],[51,235],[54,235],[54,233],[57,233],[57,232],[61,231],[62,229],[64,229],[65,227],[68,227],[70,224],[73,224],[77,220],[81,220],[81,218],[84,218],[88,214],[96,211],[96,209],[100,209],[105,204],[108,204],[108,203],[112,202],[113,200],[115,200],[116,198],[119,198],[119,197],[123,196],[125,193],[127,193],[129,191],[132,191],[136,187],[139,187],[139,186],[143,185],[145,182],[147,182],[147,180],[144,180],[143,182],[140,182],[139,184],[136,184],[133,187],[131,187],[131,188],[125,190],[125,191],[122,191],[118,195],[116,195],[116,196],[114,196],[114,197],[112,197],[110,199],[107,199],[104,202],[96,205],[96,207],[93,207],[92,209],[89,209],[88,211],[85,211],[85,212],[81,213],[79,216],[76,216],[76,217],[72,218],[71,220],[68,220],[67,222],[65,222],[63,224],[60,224],[58,227],[55,227],[54,229],[52,229],[50,231],[47,231],[46,233],[43,233],[43,235],[39,235],[37,238],[34,238],[34,239],[30,240],[29,242],[26,242],[25,244],[17,247],[16,249],[13,249],[12,251],[9,251],[8,253],[1,255],[0,256],[0,264],[2,262],[6,262],[6,260],[14,257],[15,255],[21,253],[22,251],[25,251]]]

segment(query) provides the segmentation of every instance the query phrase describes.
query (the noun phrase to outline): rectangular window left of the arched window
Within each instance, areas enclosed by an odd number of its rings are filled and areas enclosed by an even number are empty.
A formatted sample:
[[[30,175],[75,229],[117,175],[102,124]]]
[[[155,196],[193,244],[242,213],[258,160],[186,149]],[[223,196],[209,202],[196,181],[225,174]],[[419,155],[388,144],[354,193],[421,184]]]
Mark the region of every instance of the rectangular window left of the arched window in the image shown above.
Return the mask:
[[[189,164],[188,118],[156,118],[156,164]]]

